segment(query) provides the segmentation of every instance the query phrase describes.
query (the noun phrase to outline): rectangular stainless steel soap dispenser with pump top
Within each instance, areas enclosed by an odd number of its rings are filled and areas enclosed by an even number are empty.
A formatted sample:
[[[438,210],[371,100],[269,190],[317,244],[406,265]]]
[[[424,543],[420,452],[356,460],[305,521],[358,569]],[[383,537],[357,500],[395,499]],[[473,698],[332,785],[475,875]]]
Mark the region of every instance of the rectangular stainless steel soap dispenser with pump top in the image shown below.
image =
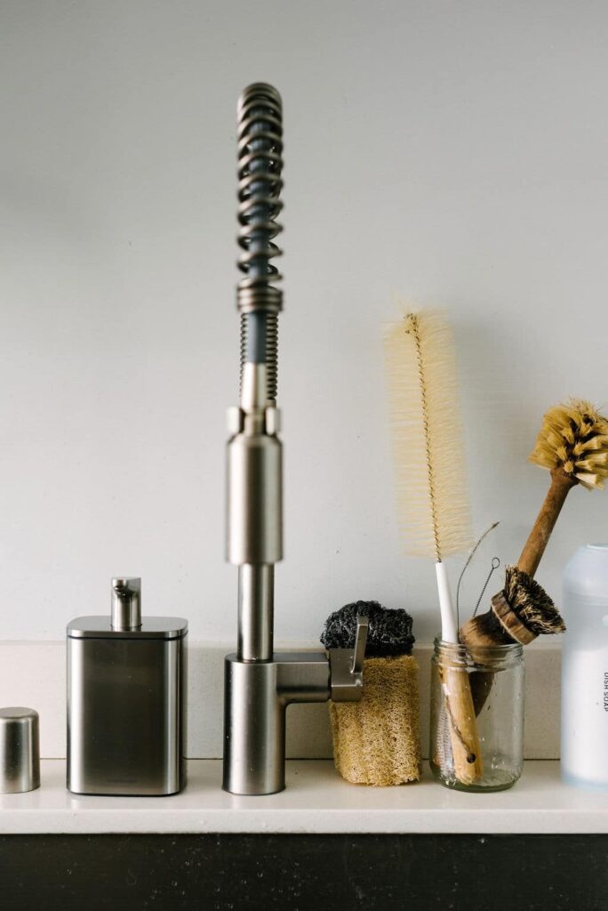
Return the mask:
[[[186,783],[186,635],[141,616],[141,579],[112,579],[112,612],[67,626],[67,787],[172,794]]]

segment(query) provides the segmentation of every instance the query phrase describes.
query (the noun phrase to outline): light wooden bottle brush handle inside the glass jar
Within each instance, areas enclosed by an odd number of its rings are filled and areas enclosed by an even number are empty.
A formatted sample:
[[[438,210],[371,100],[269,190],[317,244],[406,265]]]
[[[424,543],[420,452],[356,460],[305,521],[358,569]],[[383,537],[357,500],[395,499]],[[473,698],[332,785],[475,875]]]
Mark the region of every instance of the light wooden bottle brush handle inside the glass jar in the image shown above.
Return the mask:
[[[445,667],[439,673],[450,724],[454,773],[462,784],[474,784],[483,775],[483,762],[469,673]]]

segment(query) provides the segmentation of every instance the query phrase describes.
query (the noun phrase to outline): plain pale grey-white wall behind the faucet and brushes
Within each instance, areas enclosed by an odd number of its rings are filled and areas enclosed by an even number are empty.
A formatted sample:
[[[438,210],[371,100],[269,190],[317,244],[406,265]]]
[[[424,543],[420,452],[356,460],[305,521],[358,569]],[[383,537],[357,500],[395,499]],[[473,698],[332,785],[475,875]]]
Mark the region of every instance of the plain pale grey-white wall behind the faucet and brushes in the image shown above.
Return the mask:
[[[235,107],[282,93],[277,636],[376,598],[438,628],[396,536],[380,330],[451,316],[475,525],[518,557],[543,411],[608,401],[603,2],[5,0],[0,22],[0,634],[59,639],[141,574],[145,606],[235,636],[223,558],[236,402]],[[607,539],[574,490],[540,580]],[[456,561],[458,563],[458,561]]]

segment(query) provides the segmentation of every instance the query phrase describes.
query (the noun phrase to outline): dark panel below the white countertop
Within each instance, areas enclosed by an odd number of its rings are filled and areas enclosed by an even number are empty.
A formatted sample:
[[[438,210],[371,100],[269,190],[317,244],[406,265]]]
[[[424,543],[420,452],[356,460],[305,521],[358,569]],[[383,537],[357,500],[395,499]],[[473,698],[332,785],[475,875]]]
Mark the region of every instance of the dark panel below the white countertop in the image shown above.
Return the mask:
[[[608,834],[0,835],[2,911],[604,911]]]

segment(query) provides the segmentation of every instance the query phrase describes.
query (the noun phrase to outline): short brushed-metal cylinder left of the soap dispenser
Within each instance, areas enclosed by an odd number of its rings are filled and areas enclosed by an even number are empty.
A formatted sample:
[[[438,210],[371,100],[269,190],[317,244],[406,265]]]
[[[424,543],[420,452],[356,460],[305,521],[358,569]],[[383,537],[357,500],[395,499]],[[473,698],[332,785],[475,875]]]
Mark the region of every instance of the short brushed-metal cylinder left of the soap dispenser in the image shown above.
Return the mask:
[[[38,712],[21,707],[0,709],[0,793],[22,793],[38,787]]]

